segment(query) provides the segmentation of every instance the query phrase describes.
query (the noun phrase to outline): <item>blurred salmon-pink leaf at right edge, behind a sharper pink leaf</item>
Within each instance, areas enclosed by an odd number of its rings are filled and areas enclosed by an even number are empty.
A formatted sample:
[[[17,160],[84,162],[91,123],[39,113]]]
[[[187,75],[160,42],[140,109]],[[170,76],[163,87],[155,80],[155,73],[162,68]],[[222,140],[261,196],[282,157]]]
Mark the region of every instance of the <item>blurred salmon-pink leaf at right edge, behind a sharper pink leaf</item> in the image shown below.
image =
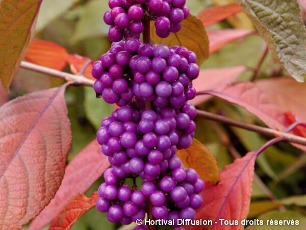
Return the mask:
[[[258,80],[255,84],[284,111],[292,111],[301,121],[306,122],[306,83],[284,77]]]

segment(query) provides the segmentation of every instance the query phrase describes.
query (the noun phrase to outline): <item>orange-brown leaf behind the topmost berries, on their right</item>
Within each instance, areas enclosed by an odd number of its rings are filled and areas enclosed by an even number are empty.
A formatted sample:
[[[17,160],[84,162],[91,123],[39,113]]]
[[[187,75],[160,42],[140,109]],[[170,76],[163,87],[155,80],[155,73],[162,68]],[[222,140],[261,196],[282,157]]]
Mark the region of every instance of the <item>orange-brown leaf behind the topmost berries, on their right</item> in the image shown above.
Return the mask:
[[[169,37],[160,38],[155,33],[154,22],[151,23],[151,38],[158,44],[166,44],[169,47],[180,45],[196,53],[197,64],[202,64],[209,57],[209,40],[206,30],[198,18],[189,15],[183,20],[180,32],[171,33]]]

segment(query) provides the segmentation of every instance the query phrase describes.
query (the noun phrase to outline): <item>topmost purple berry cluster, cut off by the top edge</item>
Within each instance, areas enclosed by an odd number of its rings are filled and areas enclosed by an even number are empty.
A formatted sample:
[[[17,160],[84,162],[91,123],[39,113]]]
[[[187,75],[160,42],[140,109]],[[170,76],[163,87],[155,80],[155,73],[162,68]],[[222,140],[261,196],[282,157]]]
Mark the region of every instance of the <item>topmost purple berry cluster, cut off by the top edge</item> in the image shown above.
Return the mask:
[[[104,21],[111,26],[109,38],[113,42],[139,38],[144,30],[143,19],[155,20],[156,33],[168,37],[179,32],[183,19],[189,15],[186,0],[109,0],[110,10]]]

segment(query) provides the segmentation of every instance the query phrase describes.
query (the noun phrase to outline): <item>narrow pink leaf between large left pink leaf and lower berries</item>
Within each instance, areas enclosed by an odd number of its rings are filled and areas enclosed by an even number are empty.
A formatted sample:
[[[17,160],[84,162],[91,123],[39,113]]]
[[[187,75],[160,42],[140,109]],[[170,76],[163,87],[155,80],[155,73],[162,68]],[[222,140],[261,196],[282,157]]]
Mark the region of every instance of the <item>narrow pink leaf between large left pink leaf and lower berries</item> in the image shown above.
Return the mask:
[[[66,167],[62,185],[52,201],[31,223],[28,230],[38,230],[52,221],[75,195],[86,192],[110,166],[101,154],[96,140],[92,141]]]

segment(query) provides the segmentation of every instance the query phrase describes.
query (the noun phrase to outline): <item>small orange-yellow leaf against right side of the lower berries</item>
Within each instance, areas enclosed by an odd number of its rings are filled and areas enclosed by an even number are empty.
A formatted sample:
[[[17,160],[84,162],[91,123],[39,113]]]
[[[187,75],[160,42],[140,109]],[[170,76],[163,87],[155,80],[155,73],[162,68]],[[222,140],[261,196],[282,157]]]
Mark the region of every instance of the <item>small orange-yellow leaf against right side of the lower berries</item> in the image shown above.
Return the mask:
[[[177,151],[183,164],[195,169],[203,180],[216,184],[219,181],[219,168],[216,158],[210,150],[193,139],[192,145],[187,149]]]

